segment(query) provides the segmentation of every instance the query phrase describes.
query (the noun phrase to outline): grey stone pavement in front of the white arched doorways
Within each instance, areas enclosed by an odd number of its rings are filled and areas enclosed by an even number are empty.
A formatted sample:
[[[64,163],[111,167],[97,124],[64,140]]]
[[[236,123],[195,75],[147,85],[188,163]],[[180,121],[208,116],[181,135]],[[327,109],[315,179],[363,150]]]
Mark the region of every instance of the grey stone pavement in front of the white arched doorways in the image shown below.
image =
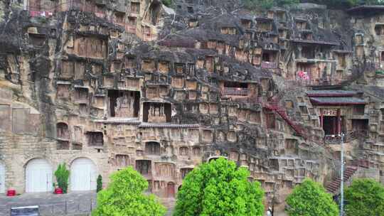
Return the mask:
[[[0,216],[9,216],[11,207],[39,205],[40,214],[89,215],[96,206],[96,193],[72,192],[64,195],[53,193],[25,193],[15,197],[0,195]]]

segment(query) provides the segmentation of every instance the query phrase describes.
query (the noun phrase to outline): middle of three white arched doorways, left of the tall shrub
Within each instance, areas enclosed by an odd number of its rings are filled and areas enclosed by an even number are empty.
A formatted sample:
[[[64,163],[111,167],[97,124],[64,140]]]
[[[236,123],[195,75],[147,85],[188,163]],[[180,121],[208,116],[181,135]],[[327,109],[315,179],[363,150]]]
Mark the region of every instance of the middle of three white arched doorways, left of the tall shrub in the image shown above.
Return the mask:
[[[52,166],[42,158],[26,165],[26,193],[52,191]]]

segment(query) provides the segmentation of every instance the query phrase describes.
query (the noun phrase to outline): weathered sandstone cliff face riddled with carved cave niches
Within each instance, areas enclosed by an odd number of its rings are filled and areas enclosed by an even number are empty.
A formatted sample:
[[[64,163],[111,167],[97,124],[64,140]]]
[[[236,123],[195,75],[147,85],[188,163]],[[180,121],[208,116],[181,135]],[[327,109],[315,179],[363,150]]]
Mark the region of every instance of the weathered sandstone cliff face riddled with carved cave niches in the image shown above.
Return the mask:
[[[0,193],[52,190],[27,172],[38,160],[46,184],[67,163],[70,190],[134,166],[173,199],[194,166],[224,156],[282,210],[304,178],[336,177],[341,132],[347,165],[383,181],[384,11],[364,10],[1,1]]]

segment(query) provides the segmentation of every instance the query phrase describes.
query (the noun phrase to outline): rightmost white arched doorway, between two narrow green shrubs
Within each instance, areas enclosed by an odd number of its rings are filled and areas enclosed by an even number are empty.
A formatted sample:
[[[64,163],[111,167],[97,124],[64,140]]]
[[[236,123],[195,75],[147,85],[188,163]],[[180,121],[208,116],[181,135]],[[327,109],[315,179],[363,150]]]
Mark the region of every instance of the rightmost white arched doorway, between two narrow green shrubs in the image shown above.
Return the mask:
[[[70,166],[70,187],[73,191],[96,190],[96,166],[88,158],[77,158]]]

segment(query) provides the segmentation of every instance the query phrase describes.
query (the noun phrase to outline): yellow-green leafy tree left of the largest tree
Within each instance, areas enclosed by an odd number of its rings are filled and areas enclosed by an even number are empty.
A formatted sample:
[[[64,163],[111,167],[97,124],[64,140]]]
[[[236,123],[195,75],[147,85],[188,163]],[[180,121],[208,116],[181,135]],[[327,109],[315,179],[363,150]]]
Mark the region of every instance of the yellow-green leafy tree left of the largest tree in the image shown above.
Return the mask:
[[[165,207],[154,195],[144,195],[148,182],[131,166],[112,173],[107,188],[97,193],[92,216],[161,216]]]

